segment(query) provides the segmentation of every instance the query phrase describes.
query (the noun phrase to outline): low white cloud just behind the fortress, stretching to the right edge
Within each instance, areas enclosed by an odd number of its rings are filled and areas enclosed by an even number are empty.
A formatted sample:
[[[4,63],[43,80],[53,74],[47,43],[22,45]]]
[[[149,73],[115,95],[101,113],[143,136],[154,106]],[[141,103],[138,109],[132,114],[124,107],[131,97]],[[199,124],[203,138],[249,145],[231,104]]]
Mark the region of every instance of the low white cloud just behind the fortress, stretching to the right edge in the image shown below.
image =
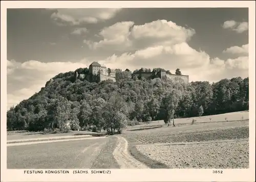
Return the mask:
[[[210,58],[206,52],[197,51],[187,43],[156,46],[120,56],[114,54],[101,63],[106,67],[118,67],[123,70],[162,67],[175,73],[175,70],[180,68],[182,74],[189,75],[190,81],[217,82],[223,78],[248,76],[248,56],[227,60]]]

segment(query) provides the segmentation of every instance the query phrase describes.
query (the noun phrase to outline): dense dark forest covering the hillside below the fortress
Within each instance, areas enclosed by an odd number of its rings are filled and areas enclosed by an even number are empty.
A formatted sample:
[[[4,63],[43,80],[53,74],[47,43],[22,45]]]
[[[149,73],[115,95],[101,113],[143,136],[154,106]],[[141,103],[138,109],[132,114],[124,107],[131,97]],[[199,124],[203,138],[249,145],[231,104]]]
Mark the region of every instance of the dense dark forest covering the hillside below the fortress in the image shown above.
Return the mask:
[[[79,68],[60,73],[38,93],[10,108],[7,130],[64,131],[68,126],[71,130],[120,132],[139,122],[163,119],[167,123],[173,117],[221,114],[249,107],[248,77],[186,85],[179,78],[138,79],[131,77],[128,69],[116,82],[90,83],[75,76],[88,71]]]

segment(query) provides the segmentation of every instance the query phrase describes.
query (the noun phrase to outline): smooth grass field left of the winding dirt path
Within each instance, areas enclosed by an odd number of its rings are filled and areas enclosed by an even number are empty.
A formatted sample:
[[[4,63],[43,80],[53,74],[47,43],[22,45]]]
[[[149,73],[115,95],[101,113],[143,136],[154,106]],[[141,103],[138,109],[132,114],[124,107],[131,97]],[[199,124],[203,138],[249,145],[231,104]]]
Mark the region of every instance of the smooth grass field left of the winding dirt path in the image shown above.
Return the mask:
[[[8,169],[119,168],[115,137],[7,147]]]

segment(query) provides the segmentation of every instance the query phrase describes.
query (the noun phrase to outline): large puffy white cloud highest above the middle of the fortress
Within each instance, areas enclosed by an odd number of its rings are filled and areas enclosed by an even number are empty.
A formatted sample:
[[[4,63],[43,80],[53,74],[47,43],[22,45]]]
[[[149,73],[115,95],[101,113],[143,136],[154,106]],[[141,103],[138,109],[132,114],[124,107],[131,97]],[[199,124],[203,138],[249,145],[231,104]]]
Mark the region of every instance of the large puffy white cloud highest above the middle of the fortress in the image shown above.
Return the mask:
[[[158,45],[174,45],[186,42],[195,34],[192,28],[178,26],[165,19],[134,25],[134,22],[118,22],[103,28],[99,42],[86,42],[91,48],[111,50],[138,50]]]

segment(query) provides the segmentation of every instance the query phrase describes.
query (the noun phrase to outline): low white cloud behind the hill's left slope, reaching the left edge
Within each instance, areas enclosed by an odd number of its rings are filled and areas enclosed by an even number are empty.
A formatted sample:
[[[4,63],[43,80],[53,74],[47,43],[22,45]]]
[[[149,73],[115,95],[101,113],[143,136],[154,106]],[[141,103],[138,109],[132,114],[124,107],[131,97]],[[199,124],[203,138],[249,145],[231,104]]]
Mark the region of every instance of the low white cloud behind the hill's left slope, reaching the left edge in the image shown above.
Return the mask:
[[[42,63],[36,60],[18,63],[15,60],[7,60],[7,107],[15,106],[40,91],[41,87],[58,73],[75,71],[89,65],[90,62],[86,59],[77,63]]]

